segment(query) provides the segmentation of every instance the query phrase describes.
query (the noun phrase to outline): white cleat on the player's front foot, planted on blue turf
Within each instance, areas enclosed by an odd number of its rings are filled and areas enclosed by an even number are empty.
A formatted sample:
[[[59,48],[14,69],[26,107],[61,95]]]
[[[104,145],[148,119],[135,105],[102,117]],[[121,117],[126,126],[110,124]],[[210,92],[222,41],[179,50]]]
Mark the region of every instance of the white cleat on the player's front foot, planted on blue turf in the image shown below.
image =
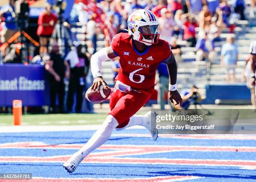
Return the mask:
[[[80,154],[80,152],[76,152],[69,158],[67,162],[63,164],[63,167],[67,170],[67,172],[72,173],[83,159],[84,157],[82,157],[82,154]]]

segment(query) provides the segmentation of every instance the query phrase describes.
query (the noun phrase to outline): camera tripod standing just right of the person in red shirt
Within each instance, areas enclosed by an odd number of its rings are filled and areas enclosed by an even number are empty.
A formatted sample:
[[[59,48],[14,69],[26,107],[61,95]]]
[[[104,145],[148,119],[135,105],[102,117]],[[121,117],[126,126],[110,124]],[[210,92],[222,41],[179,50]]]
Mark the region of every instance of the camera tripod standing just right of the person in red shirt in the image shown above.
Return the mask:
[[[53,45],[54,40],[56,40],[59,45],[60,55],[65,56],[65,51],[67,51],[66,48],[70,48],[72,46],[72,41],[69,35],[69,31],[67,30],[67,27],[63,25],[61,18],[59,18],[56,25],[54,26],[49,44],[50,46]]]

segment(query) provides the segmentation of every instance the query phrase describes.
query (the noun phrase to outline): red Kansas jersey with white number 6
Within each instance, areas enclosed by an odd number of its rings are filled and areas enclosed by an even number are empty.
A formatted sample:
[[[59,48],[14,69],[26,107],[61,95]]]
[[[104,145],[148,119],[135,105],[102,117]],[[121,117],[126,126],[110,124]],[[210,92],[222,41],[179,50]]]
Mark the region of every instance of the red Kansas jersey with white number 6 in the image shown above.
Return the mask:
[[[171,46],[165,40],[148,46],[139,53],[128,33],[119,33],[112,40],[111,47],[120,57],[120,69],[115,79],[132,88],[147,90],[154,88],[156,69],[171,56]]]

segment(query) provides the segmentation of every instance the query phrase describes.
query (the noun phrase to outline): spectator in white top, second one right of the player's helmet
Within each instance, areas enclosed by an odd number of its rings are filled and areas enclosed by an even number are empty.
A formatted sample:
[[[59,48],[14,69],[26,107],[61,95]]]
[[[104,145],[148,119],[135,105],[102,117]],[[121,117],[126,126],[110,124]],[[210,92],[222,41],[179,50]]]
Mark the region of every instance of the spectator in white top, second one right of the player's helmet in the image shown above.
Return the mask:
[[[182,18],[182,14],[183,14],[182,10],[177,10],[174,16],[175,26],[174,26],[173,35],[179,39],[182,39],[182,36],[183,36],[184,20]]]

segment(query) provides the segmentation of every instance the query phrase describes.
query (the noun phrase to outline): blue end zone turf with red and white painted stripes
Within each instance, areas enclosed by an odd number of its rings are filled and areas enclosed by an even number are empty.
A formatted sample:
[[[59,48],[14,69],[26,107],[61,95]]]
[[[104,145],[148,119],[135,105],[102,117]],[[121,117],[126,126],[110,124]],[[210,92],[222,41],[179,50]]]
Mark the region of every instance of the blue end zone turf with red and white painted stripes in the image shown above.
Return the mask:
[[[68,174],[62,164],[94,132],[0,134],[1,173],[32,173],[38,181],[256,180],[256,135],[161,135],[154,142],[141,129],[113,132]]]

